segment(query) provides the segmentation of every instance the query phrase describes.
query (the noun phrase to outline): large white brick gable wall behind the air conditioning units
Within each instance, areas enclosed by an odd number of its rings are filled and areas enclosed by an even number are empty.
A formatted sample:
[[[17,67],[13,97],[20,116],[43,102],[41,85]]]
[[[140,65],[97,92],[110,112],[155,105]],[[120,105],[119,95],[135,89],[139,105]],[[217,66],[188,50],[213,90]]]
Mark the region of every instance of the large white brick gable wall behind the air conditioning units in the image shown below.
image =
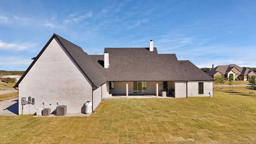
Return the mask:
[[[35,104],[26,104],[23,114],[34,114],[38,108],[52,112],[57,102],[67,106],[67,113],[79,113],[86,101],[92,101],[91,85],[53,39],[19,84],[19,114],[20,99],[28,96],[35,98]]]

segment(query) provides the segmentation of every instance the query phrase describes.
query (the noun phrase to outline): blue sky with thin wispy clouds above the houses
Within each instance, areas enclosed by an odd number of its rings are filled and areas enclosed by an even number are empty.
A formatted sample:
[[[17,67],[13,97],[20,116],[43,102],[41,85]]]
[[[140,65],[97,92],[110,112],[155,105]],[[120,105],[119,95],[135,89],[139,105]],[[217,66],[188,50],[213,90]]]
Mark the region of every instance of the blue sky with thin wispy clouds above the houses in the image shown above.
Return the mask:
[[[198,68],[256,67],[255,0],[0,0],[0,70],[26,70],[52,34],[88,54],[149,47]]]

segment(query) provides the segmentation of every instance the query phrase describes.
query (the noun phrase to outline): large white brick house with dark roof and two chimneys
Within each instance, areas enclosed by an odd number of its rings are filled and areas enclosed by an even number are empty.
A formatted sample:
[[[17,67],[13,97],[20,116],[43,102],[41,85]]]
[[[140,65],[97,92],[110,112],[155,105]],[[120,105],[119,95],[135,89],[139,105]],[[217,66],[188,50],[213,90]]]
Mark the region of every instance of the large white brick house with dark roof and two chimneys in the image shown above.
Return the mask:
[[[149,48],[105,48],[104,55],[88,55],[54,34],[14,87],[19,89],[19,114],[21,98],[28,96],[35,103],[24,105],[23,114],[53,111],[58,105],[66,105],[67,113],[84,113],[86,101],[94,110],[112,94],[209,96],[213,80],[188,60],[158,54],[153,41]]]

